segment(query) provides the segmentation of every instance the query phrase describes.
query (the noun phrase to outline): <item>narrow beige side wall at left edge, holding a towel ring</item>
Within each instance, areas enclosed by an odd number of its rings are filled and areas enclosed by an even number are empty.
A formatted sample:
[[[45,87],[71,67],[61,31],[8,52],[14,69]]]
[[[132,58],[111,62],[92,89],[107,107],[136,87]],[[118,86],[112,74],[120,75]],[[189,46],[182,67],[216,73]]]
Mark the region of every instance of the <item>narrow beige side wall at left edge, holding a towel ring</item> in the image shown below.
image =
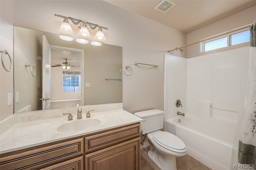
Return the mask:
[[[0,50],[7,50],[13,60],[14,2],[0,0]],[[1,62],[1,61],[0,61]],[[8,56],[4,63],[10,68]],[[13,69],[7,72],[0,64],[0,121],[13,114],[13,105],[7,106],[7,94],[13,93]],[[13,96],[12,96],[13,97]]]

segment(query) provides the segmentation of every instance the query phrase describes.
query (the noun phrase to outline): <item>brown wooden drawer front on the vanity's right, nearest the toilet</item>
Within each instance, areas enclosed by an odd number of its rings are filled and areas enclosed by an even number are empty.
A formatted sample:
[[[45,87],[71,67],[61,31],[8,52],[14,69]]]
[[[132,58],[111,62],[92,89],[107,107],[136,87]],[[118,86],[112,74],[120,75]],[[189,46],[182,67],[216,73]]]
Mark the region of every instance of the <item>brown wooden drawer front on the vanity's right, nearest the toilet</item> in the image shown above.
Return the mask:
[[[140,123],[85,137],[86,153],[140,136]]]

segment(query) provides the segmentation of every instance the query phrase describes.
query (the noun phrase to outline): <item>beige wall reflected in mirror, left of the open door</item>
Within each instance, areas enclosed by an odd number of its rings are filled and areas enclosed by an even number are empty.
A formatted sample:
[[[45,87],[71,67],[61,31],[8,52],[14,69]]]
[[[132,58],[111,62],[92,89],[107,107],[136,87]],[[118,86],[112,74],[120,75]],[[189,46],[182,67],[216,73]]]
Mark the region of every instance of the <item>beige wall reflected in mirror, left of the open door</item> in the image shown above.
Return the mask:
[[[22,30],[22,34],[18,34]],[[42,32],[28,30],[24,28],[14,29],[14,55],[17,56],[14,61],[14,95],[19,93],[19,101],[16,103],[14,97],[14,112],[37,111],[42,110]],[[25,67],[24,63],[34,65],[36,71],[31,67]],[[26,87],[26,88],[25,88]],[[29,109],[24,110],[26,107]]]

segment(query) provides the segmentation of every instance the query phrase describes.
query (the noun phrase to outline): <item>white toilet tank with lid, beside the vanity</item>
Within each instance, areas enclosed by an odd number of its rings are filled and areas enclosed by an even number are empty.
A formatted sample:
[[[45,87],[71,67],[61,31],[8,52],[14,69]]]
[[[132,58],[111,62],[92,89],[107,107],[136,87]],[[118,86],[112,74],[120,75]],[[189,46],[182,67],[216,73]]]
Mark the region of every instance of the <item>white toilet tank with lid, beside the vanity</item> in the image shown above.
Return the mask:
[[[143,119],[140,125],[142,134],[154,132],[164,127],[164,111],[153,109],[136,112],[134,115]]]

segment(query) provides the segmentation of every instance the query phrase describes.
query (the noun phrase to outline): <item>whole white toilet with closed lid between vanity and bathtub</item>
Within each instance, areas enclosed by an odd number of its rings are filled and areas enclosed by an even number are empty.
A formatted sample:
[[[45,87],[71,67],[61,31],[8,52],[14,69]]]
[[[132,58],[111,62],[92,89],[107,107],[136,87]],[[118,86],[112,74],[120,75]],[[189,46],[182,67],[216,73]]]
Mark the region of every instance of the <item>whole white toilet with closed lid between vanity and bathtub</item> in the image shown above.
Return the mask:
[[[160,130],[164,126],[164,111],[153,109],[134,115],[143,119],[140,127],[150,144],[148,157],[162,170],[177,170],[176,157],[186,155],[187,148],[180,138]]]

